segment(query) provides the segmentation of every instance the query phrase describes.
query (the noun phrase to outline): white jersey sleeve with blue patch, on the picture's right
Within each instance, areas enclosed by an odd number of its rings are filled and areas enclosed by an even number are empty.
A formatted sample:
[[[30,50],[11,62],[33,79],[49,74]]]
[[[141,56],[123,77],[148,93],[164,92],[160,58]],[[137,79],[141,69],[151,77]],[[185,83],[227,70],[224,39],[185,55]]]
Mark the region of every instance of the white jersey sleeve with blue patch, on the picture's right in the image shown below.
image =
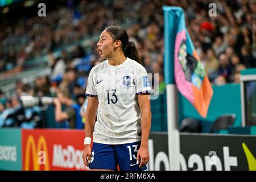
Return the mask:
[[[139,67],[135,73],[136,94],[150,94],[151,87],[148,80],[147,71],[144,67]]]

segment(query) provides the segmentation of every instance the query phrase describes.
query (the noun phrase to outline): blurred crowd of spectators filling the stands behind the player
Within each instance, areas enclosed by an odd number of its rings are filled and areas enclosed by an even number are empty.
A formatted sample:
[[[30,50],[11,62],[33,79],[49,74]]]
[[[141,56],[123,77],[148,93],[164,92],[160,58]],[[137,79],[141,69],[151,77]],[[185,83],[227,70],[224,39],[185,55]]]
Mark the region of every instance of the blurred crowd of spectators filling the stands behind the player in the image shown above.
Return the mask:
[[[25,1],[21,2],[16,6]],[[212,84],[238,83],[242,69],[256,67],[253,0],[40,2],[46,3],[46,17],[38,16],[36,1],[30,7],[35,10],[23,8],[27,12],[15,18],[15,7],[1,7],[2,12],[9,12],[0,15],[0,80],[13,79],[1,84],[0,127],[43,127],[40,108],[27,111],[20,105],[19,98],[29,95],[56,97],[55,121],[81,128],[88,75],[102,61],[96,46],[98,36],[111,24],[126,28],[147,72],[159,73],[159,88],[155,89],[164,92],[164,5],[184,9],[189,35]],[[208,14],[212,2],[217,5],[217,16]],[[29,75],[31,70],[35,74]],[[26,72],[28,76],[23,77]]]

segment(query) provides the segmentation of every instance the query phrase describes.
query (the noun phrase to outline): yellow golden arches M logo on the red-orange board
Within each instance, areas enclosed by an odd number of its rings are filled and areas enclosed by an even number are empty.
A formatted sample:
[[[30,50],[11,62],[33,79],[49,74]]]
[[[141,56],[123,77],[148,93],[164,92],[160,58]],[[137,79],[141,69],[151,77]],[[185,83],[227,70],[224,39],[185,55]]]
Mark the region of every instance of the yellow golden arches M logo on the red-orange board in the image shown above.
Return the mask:
[[[30,155],[32,151],[32,156]],[[48,155],[48,149],[46,144],[46,139],[41,135],[38,139],[38,143],[36,145],[34,137],[32,135],[28,135],[27,143],[26,143],[26,150],[25,150],[25,159],[24,159],[24,170],[28,171],[30,170],[30,159],[32,157],[32,164],[33,164],[33,170],[39,171],[40,164],[38,162],[38,153],[40,151],[44,151],[46,154],[46,164],[44,164],[44,170],[49,171],[49,155]]]

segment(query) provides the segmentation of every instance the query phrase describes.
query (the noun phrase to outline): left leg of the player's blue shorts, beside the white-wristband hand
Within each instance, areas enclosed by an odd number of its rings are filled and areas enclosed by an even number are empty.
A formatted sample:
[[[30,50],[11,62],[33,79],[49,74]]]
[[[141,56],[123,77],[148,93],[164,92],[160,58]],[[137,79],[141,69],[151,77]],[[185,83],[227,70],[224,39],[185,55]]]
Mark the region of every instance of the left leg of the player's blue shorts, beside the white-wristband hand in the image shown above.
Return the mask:
[[[92,170],[116,170],[117,160],[115,159],[114,147],[109,144],[93,143],[89,168]]]

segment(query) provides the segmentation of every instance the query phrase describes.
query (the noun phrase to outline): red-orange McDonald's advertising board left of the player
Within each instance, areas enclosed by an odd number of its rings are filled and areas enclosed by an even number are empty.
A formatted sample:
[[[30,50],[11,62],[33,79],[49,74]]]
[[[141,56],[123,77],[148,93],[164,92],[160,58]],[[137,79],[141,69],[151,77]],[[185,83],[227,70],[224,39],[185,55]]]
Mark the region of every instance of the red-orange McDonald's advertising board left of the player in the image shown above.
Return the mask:
[[[22,130],[23,170],[88,170],[84,130]]]

